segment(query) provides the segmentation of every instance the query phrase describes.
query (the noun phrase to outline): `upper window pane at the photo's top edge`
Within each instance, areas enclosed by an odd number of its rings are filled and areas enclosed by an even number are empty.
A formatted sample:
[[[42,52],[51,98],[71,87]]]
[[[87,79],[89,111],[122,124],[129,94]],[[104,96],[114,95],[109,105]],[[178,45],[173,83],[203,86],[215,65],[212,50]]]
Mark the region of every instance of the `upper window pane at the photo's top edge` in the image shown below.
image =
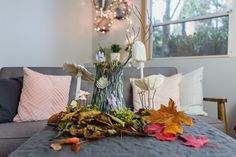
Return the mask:
[[[233,0],[152,0],[154,23],[204,16],[232,9]]]

